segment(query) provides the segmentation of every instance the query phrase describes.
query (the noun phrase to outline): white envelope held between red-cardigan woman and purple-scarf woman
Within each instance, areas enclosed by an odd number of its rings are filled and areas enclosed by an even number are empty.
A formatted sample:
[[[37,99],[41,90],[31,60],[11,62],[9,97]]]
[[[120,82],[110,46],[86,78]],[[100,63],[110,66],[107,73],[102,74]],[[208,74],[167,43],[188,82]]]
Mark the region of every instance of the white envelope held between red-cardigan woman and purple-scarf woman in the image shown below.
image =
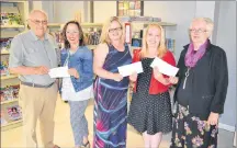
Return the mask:
[[[171,66],[170,64],[163,61],[162,59],[156,57],[151,62],[150,67],[158,67],[159,71],[167,76],[174,77],[179,71],[179,68]]]

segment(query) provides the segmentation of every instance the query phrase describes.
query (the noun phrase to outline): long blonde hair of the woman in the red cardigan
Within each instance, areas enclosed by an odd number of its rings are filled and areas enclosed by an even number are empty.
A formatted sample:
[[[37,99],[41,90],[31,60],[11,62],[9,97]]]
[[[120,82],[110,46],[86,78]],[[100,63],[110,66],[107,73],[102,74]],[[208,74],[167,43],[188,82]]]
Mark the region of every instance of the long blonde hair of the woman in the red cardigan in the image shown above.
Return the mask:
[[[147,34],[148,34],[149,29],[151,29],[151,27],[156,27],[156,29],[160,30],[160,42],[159,42],[159,45],[157,47],[157,53],[158,53],[157,56],[161,58],[167,53],[166,38],[165,38],[165,32],[163,32],[162,26],[160,26],[156,23],[149,24],[145,31],[145,34],[143,37],[143,47],[140,50],[140,57],[144,57],[148,52]]]

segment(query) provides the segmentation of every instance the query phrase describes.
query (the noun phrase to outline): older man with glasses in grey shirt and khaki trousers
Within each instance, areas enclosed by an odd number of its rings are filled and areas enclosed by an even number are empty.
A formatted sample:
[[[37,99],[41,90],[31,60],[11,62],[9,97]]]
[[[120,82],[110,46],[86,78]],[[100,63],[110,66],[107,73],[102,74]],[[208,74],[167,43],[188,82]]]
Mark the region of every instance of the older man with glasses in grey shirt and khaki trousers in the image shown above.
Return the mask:
[[[10,48],[9,69],[21,81],[19,104],[23,112],[25,147],[36,148],[36,123],[40,119],[44,147],[53,144],[54,112],[57,100],[56,80],[48,75],[57,67],[56,46],[47,31],[47,14],[33,10],[29,16],[30,30],[16,35]]]

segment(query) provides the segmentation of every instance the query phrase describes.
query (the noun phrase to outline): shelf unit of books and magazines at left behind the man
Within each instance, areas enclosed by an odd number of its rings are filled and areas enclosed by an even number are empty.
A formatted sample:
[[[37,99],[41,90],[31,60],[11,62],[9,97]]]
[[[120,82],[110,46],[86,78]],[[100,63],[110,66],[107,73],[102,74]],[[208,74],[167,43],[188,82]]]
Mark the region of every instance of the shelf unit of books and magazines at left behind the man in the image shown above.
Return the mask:
[[[1,1],[1,42],[13,38],[19,33],[25,31],[25,22],[29,15],[27,1]],[[12,22],[9,14],[20,16],[20,22]],[[10,44],[10,43],[9,43]],[[2,47],[2,46],[1,46]],[[5,67],[4,73],[1,69],[1,130],[8,130],[22,125],[21,107],[19,106],[19,99],[15,89],[20,87],[20,81],[16,75],[9,75],[7,69],[9,60],[9,47],[1,48],[1,66]],[[4,65],[3,65],[4,62]],[[9,89],[11,88],[11,89]],[[14,112],[14,109],[15,112]],[[16,115],[16,116],[15,116]]]

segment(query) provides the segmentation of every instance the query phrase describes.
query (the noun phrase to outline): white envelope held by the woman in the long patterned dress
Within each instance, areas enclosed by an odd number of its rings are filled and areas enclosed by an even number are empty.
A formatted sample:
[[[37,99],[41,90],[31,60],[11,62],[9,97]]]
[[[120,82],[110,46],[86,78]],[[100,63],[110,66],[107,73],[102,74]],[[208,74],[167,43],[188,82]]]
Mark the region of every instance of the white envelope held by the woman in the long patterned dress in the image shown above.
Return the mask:
[[[142,62],[134,62],[126,66],[117,67],[120,75],[123,77],[131,76],[133,72],[142,73],[143,72],[143,66]]]

